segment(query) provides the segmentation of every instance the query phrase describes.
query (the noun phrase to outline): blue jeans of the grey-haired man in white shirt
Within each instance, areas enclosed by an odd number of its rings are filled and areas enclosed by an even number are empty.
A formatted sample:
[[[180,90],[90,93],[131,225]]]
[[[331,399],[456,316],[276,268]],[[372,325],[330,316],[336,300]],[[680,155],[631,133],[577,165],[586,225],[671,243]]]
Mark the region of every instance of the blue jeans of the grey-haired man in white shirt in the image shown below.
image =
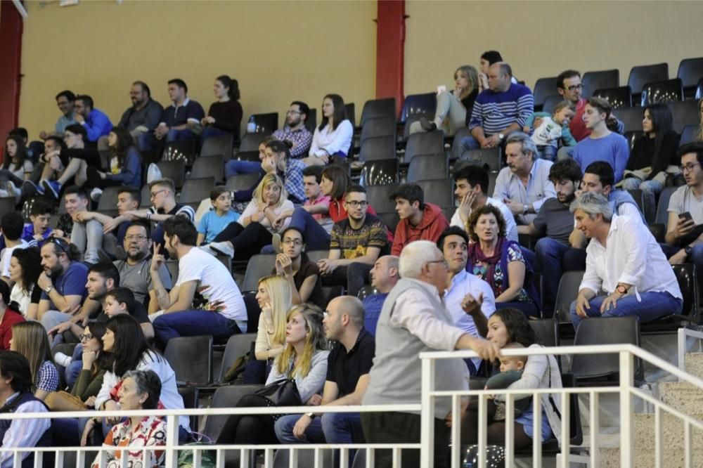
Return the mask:
[[[589,317],[637,316],[640,323],[645,323],[657,318],[671,316],[674,313],[681,313],[681,307],[683,307],[683,301],[676,299],[668,292],[640,292],[642,301],[638,301],[637,297],[632,294],[619,299],[616,308],[611,307],[609,311],[600,313],[600,304],[603,303],[605,297],[598,296],[588,301],[590,307],[586,309],[586,315]],[[581,320],[583,320],[582,317],[576,314],[576,301],[572,302],[571,317],[575,330],[579,327]]]

